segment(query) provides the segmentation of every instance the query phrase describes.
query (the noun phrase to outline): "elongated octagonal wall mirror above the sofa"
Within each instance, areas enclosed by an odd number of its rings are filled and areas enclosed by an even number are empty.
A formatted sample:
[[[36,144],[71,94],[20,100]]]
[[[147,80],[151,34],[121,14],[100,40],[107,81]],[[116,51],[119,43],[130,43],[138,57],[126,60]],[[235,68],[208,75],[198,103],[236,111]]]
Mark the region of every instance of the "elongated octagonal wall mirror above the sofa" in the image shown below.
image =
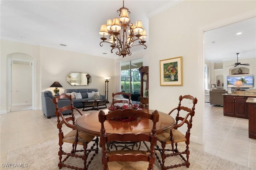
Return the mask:
[[[67,75],[67,81],[70,85],[89,85],[92,82],[92,77],[89,73],[81,73],[72,71]]]

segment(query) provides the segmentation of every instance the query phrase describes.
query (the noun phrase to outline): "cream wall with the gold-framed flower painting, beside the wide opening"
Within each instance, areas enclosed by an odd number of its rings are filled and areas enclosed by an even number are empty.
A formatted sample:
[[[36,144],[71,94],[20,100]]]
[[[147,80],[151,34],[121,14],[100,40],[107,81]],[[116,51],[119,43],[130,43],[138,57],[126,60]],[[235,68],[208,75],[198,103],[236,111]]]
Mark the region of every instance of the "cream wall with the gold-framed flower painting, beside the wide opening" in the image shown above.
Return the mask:
[[[182,1],[150,18],[149,105],[168,112],[179,95],[198,98],[191,140],[204,142],[203,32],[255,17],[256,1]],[[183,86],[160,86],[159,60],[183,57]],[[158,96],[158,97],[156,97]]]

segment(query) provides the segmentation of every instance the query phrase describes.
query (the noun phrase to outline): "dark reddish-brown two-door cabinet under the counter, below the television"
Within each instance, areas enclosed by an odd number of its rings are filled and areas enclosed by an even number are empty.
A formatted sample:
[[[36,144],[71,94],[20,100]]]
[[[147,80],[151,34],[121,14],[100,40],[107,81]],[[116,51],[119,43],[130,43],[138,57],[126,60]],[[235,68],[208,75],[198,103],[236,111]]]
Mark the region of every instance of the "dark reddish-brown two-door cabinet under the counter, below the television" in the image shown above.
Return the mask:
[[[247,96],[224,95],[223,97],[224,116],[248,119],[246,104]]]

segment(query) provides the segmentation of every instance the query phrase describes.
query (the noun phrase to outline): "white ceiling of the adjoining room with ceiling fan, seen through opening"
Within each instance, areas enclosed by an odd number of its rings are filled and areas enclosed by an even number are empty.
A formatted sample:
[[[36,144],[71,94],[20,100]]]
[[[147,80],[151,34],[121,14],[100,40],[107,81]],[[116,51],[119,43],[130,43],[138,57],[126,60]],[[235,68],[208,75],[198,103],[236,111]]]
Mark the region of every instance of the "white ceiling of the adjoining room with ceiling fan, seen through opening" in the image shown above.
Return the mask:
[[[240,35],[236,35],[242,32]],[[256,57],[256,18],[240,21],[204,34],[205,58],[214,61],[237,60]]]

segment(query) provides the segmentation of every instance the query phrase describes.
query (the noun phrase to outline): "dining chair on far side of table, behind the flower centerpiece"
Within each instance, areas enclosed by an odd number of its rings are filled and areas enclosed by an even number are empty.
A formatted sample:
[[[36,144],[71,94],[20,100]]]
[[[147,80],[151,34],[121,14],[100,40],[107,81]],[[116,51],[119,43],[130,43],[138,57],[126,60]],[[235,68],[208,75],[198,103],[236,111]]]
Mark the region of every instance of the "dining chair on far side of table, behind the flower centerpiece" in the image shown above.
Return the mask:
[[[125,98],[119,98],[117,96],[124,96]],[[112,93],[112,103],[111,106],[122,106],[123,103],[128,103],[128,107],[132,107],[132,102],[131,102],[131,93],[126,93],[126,92],[117,92],[117,93]]]

